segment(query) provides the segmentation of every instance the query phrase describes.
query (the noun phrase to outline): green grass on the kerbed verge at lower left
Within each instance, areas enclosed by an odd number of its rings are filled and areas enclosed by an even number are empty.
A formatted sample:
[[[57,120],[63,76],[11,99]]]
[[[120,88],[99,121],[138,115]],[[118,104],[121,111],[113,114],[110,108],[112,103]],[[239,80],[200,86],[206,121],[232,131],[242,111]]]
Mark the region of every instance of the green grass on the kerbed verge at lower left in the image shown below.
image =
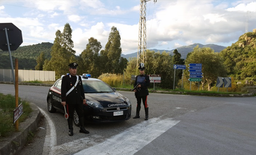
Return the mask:
[[[25,121],[32,109],[27,101],[21,101],[23,104],[23,113],[18,119],[19,123]],[[11,135],[16,131],[13,123],[13,110],[15,109],[15,96],[10,94],[3,95],[0,93],[0,139]]]

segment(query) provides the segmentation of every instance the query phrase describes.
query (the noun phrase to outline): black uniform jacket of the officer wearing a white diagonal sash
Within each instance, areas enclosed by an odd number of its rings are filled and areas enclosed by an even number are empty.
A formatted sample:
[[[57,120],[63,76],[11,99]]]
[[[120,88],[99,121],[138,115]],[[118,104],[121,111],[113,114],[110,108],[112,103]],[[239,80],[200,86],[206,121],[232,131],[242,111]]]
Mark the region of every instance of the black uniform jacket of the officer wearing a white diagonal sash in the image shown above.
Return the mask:
[[[81,76],[79,76],[79,82],[67,96],[66,93],[75,86],[77,82],[77,76],[66,75],[62,78],[61,83],[61,100],[66,101],[67,104],[79,104],[83,103],[82,100],[85,99],[84,88],[82,84]]]

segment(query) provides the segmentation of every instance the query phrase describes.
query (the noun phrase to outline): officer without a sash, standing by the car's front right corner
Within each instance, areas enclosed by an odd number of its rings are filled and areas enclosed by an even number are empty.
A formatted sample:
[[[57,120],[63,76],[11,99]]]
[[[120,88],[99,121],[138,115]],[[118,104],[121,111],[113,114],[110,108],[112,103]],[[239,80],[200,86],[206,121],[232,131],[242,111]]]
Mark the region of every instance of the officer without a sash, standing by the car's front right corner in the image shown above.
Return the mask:
[[[143,63],[139,64],[138,69],[140,74],[136,76],[135,83],[133,86],[133,87],[137,86],[137,89],[134,90],[135,97],[137,99],[137,107],[136,107],[136,115],[133,119],[139,118],[140,104],[142,99],[144,109],[145,109],[145,120],[148,120],[149,119],[148,87],[150,86],[150,77],[144,74],[145,67]]]

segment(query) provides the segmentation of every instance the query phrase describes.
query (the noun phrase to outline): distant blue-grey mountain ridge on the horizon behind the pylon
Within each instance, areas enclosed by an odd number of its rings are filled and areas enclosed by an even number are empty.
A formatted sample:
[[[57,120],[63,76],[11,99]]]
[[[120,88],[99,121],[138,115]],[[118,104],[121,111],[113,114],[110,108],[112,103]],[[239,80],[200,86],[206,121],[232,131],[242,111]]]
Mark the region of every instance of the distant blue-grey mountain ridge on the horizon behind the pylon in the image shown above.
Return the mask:
[[[219,45],[214,45],[214,44],[207,44],[207,45],[202,45],[202,44],[193,44],[193,45],[189,45],[189,46],[182,46],[179,48],[176,48],[178,50],[178,53],[181,54],[181,58],[186,59],[187,55],[189,52],[193,51],[194,47],[196,47],[197,45],[199,45],[200,48],[204,48],[204,47],[209,47],[211,49],[213,49],[215,52],[221,52],[222,50],[224,50],[226,47],[224,46],[219,46]],[[173,54],[173,50],[157,50],[157,49],[149,49],[150,51],[155,51],[155,52],[169,52],[171,55]],[[126,58],[127,60],[129,60],[129,58],[132,57],[137,57],[137,52],[135,53],[131,53],[131,54],[121,54],[121,57]]]

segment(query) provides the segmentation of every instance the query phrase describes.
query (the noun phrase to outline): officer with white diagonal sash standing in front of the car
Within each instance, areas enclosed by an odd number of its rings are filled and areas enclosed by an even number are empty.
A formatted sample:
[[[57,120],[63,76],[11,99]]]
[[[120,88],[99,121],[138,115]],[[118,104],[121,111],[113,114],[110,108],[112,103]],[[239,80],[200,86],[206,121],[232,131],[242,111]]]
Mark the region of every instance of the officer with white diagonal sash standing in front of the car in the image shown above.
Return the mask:
[[[63,76],[61,83],[61,104],[66,106],[66,110],[68,113],[68,135],[73,135],[73,117],[74,117],[74,109],[79,116],[80,122],[80,131],[81,133],[89,134],[89,131],[85,130],[84,127],[84,110],[83,104],[86,104],[84,88],[82,84],[81,76],[77,74],[77,66],[76,62],[70,63],[69,65],[70,74]]]

